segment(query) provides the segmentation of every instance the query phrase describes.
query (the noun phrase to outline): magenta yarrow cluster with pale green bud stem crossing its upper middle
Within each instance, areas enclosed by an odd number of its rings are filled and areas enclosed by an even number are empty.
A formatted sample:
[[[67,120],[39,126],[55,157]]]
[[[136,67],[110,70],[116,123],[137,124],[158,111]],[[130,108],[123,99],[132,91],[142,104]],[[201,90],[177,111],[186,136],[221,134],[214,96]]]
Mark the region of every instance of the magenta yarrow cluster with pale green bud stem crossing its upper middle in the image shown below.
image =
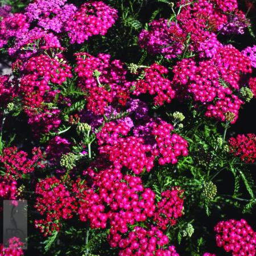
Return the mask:
[[[88,92],[87,107],[94,114],[104,114],[106,107],[118,101],[125,105],[129,98],[130,83],[120,60],[110,60],[110,55],[100,53],[94,57],[85,52],[76,53],[75,71],[80,77],[79,86]]]

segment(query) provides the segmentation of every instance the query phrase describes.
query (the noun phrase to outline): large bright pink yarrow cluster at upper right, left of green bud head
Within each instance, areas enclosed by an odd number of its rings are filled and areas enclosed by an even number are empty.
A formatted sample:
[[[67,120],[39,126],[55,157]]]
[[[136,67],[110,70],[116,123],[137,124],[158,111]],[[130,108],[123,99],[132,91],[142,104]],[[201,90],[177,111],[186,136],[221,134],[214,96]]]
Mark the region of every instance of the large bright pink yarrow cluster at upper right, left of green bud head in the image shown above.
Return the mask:
[[[234,57],[235,56],[235,57]],[[227,64],[224,64],[227,63]],[[229,67],[232,67],[229,68]],[[183,59],[174,67],[175,88],[180,98],[188,97],[207,106],[205,115],[225,121],[225,113],[238,118],[238,110],[244,103],[233,90],[239,90],[241,74],[250,73],[250,61],[231,45],[218,48],[211,60],[199,61],[197,66],[193,59]]]

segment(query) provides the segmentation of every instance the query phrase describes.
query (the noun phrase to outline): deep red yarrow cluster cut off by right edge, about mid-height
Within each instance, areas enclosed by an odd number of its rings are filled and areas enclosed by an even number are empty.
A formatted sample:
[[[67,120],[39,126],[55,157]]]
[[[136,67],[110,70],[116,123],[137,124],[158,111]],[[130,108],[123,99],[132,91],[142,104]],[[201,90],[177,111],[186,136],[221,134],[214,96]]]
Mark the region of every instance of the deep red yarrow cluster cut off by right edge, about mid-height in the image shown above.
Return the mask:
[[[229,150],[242,161],[254,163],[256,159],[256,135],[253,133],[238,134],[236,138],[230,138]]]

